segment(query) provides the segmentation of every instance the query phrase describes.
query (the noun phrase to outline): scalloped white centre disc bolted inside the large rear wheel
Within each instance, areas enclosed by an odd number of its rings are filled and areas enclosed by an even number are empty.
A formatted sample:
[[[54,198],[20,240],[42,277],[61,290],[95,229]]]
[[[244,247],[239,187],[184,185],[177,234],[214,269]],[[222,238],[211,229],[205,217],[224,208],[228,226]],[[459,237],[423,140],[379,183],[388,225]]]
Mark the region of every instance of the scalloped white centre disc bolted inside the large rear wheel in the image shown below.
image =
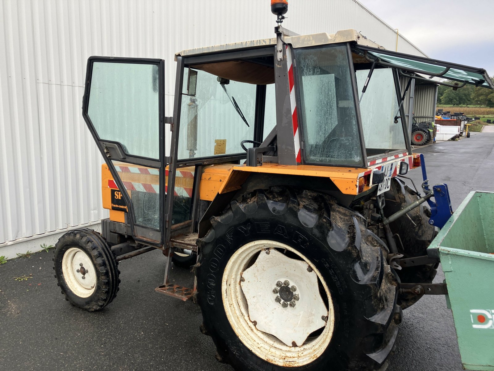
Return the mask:
[[[300,346],[309,334],[326,325],[322,318],[328,316],[328,309],[319,292],[317,275],[307,270],[307,263],[270,250],[259,254],[242,274],[245,280],[240,283],[248,315],[257,329],[276,336],[288,346]],[[273,278],[278,278],[273,293],[263,291],[264,282],[273,282]],[[299,288],[290,282],[297,282]],[[306,300],[298,300],[298,291]]]

